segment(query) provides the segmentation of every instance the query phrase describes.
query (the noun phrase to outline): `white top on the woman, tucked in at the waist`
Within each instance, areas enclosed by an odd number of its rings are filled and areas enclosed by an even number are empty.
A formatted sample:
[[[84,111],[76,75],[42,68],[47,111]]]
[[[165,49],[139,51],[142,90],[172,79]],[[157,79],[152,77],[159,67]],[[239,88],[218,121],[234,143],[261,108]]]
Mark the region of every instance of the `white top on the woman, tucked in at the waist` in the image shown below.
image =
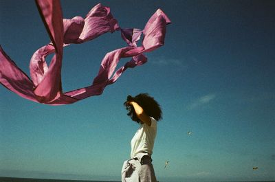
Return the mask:
[[[131,158],[136,157],[138,153],[148,153],[152,155],[155,136],[157,135],[157,121],[151,118],[151,126],[140,124],[137,132],[131,140]]]

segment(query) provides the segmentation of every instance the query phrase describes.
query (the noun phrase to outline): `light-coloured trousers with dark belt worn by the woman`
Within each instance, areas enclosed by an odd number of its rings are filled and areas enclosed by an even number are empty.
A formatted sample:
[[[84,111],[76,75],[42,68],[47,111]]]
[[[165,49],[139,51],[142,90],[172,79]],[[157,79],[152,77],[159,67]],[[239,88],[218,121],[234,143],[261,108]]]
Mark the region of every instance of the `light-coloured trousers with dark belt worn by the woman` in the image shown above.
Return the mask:
[[[124,161],[121,174],[122,182],[157,182],[152,159],[148,155]]]

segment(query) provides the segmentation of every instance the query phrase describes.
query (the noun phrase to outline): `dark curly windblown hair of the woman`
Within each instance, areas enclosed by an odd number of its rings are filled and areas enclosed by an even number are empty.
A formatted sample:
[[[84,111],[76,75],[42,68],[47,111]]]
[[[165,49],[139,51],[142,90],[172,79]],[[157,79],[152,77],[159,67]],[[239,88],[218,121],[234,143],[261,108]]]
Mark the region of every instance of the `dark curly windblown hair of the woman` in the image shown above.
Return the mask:
[[[160,108],[157,101],[155,101],[154,98],[149,96],[148,93],[140,93],[135,97],[128,95],[126,102],[124,102],[126,110],[129,111],[127,115],[129,115],[134,122],[140,123],[140,119],[135,114],[133,106],[131,104],[128,104],[128,102],[131,101],[137,102],[137,104],[139,104],[142,107],[146,115],[153,117],[157,121],[162,120],[162,109]]]

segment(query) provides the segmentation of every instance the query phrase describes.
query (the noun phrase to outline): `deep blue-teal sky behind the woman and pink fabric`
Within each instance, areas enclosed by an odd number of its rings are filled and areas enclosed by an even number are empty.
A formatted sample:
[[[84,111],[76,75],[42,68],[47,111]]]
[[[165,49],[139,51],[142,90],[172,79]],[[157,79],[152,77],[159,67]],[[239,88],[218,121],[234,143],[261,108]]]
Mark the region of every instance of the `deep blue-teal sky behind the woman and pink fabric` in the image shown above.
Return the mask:
[[[164,113],[153,151],[159,181],[275,180],[275,1],[61,1],[63,16],[85,17],[99,2],[120,27],[140,29],[161,8],[172,21],[165,45],[75,104],[38,104],[0,87],[0,176],[119,181],[138,127],[123,102],[149,93]],[[0,8],[1,46],[29,75],[32,54],[50,41],[36,5]],[[65,47],[63,90],[91,84],[104,55],[125,45],[115,32]]]

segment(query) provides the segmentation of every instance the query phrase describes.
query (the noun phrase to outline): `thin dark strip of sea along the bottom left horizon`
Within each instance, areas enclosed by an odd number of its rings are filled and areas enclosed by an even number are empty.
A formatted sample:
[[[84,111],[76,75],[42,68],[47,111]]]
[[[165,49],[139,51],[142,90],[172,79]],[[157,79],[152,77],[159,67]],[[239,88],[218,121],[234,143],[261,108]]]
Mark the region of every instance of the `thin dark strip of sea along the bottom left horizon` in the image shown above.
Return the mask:
[[[83,181],[83,180],[64,180],[64,179],[28,179],[0,177],[0,182],[119,182],[119,181]]]

